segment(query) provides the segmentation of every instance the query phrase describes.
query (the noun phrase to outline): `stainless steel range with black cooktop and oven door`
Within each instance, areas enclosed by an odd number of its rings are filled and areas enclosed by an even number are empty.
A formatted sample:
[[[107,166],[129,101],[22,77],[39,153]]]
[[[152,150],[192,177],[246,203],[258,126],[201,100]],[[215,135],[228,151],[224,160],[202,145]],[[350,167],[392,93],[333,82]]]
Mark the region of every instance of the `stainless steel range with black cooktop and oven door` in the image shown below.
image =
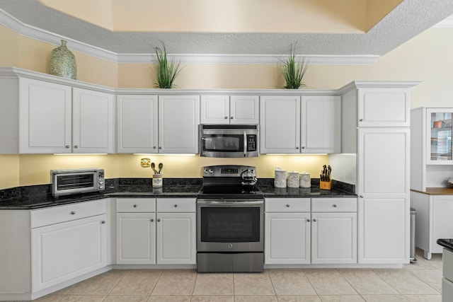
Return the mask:
[[[255,167],[205,167],[197,197],[197,271],[263,272],[263,213]]]

